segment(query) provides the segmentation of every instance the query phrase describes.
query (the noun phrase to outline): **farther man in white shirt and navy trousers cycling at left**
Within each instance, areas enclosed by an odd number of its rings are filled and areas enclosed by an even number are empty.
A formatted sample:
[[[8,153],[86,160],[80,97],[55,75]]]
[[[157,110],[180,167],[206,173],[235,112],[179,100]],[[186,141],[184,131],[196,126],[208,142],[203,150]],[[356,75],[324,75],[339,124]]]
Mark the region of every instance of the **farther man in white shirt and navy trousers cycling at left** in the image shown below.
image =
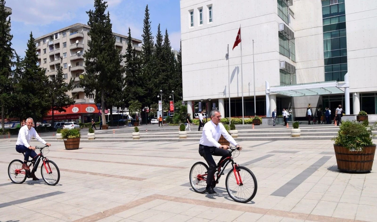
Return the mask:
[[[46,143],[41,137],[38,136],[35,129],[32,127],[33,125],[33,119],[28,118],[26,119],[26,125],[22,126],[20,131],[18,132],[18,138],[16,142],[16,151],[18,153],[25,153],[24,162],[22,164],[22,168],[24,170],[30,170],[29,166],[27,165],[29,161],[29,156],[34,159],[34,157],[37,156],[37,153],[35,153],[35,146],[29,145],[31,138],[34,136],[35,139],[37,139],[39,142],[43,143],[44,145],[51,146],[50,143]],[[33,180],[39,180],[35,174],[32,175]]]

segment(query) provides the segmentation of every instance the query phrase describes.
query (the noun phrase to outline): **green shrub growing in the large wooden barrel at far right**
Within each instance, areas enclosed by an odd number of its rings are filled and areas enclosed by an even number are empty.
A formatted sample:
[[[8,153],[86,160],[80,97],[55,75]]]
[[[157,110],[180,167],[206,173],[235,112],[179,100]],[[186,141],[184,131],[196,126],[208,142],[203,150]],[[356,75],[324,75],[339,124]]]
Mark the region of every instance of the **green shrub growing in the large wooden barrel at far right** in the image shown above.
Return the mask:
[[[372,137],[375,135],[372,134],[372,130],[377,128],[376,124],[365,126],[355,120],[352,122],[347,120],[342,122],[337,136],[331,140],[335,141],[335,145],[344,146],[352,151],[361,151],[364,146],[373,145]]]

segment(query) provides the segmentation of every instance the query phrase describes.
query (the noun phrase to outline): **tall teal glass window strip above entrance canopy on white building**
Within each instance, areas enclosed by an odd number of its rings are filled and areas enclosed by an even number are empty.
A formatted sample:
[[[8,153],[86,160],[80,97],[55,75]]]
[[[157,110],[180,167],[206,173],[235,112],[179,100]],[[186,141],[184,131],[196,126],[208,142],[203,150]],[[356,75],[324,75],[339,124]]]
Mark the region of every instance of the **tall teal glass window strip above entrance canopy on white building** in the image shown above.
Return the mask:
[[[322,20],[325,81],[344,81],[348,70],[344,0],[323,0]]]

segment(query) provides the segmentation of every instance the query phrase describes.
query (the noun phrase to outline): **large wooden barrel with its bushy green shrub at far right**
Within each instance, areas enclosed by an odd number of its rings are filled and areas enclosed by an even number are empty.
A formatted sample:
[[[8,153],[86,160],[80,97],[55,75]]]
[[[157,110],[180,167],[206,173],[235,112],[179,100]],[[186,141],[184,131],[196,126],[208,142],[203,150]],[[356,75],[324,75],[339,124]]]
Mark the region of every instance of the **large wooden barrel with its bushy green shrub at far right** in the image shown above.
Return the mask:
[[[376,145],[372,142],[372,130],[376,124],[369,125],[347,120],[342,122],[334,140],[334,150],[338,170],[346,172],[369,172],[372,170]]]

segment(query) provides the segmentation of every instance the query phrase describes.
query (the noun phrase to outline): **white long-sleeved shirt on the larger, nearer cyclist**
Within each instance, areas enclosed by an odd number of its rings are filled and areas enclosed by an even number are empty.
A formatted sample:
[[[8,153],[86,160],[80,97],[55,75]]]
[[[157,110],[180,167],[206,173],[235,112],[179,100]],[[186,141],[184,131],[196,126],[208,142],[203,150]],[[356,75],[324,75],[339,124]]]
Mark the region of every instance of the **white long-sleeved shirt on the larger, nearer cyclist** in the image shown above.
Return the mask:
[[[229,135],[227,130],[225,130],[225,127],[222,125],[222,123],[218,123],[216,126],[215,123],[212,122],[212,120],[204,124],[202,137],[200,138],[199,144],[204,146],[216,146],[217,148],[219,148],[221,144],[218,143],[218,141],[221,137],[221,134],[231,144],[233,144],[234,146],[237,145],[237,142],[233,139],[232,136]]]

